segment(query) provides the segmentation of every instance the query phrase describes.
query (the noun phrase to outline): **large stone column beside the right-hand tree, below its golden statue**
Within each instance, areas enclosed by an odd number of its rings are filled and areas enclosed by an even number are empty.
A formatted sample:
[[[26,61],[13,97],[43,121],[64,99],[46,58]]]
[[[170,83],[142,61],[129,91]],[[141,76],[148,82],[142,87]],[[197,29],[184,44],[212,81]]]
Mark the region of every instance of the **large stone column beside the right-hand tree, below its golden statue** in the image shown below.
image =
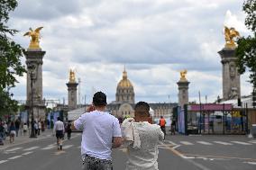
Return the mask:
[[[225,47],[218,53],[223,65],[223,100],[241,98],[240,74],[235,64],[235,48]]]

